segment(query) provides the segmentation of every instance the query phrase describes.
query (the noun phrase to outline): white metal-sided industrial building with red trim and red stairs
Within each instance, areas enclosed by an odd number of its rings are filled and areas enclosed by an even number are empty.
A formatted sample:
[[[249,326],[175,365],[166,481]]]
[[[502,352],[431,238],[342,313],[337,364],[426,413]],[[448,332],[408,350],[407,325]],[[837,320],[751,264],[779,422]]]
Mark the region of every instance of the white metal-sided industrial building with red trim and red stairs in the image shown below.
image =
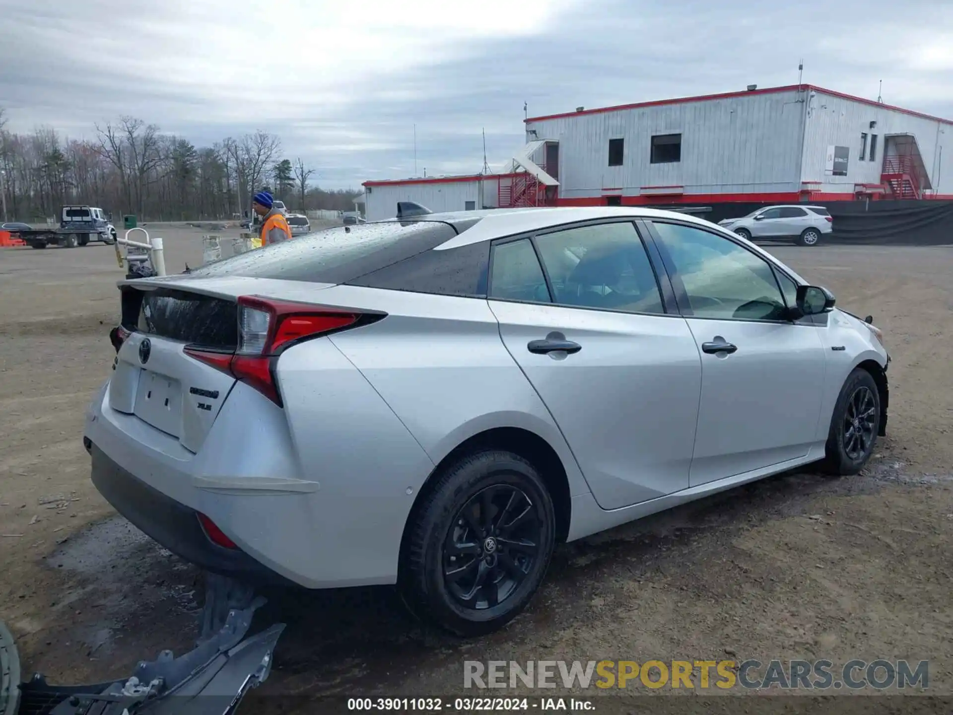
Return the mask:
[[[508,206],[953,199],[953,121],[794,85],[525,120],[501,174],[365,182],[367,216]],[[953,156],[947,149],[947,163]]]

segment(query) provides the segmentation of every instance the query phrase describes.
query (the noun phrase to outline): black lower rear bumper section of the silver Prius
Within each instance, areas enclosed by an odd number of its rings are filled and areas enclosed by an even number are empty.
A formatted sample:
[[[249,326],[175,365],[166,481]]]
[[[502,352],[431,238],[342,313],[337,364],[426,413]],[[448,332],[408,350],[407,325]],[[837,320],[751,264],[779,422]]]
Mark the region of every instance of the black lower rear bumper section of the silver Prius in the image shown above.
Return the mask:
[[[292,583],[244,551],[213,543],[202,529],[194,509],[138,480],[95,443],[90,442],[87,449],[92,457],[91,480],[99,493],[135,527],[176,556],[213,573],[242,581]]]

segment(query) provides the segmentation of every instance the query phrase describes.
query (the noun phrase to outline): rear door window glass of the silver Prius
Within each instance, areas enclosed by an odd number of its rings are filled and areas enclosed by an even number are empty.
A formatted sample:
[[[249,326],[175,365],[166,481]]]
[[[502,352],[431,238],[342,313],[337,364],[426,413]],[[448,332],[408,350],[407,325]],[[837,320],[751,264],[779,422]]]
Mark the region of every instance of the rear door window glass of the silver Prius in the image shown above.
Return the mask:
[[[663,314],[659,283],[631,223],[580,226],[537,236],[554,302]]]

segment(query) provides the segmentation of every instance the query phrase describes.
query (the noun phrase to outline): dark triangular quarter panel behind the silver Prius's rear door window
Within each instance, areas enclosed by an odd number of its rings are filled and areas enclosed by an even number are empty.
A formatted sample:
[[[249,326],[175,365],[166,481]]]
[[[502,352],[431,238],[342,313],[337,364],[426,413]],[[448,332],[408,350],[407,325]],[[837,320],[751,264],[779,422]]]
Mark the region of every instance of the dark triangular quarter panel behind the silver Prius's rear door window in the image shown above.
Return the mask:
[[[479,241],[444,251],[424,251],[347,283],[437,296],[486,297],[489,262],[490,244]]]

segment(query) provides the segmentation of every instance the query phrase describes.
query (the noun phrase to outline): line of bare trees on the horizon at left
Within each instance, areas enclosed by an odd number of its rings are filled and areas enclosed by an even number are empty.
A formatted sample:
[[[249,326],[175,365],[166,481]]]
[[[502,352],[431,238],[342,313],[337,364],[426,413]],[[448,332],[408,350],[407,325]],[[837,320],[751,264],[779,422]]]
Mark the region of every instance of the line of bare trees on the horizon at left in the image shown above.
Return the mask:
[[[71,139],[50,127],[9,132],[0,109],[0,173],[5,220],[27,222],[71,203],[151,221],[233,218],[248,215],[262,189],[294,211],[353,211],[358,193],[315,186],[315,170],[286,158],[274,134],[196,147],[132,116],[96,125],[95,138]]]

